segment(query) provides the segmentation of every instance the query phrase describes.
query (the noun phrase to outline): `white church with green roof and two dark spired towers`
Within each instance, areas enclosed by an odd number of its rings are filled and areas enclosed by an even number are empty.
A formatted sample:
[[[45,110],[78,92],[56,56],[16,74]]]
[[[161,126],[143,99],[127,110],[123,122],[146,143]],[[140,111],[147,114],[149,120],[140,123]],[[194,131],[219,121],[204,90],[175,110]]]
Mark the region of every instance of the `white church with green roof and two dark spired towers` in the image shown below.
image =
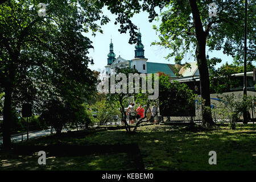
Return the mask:
[[[144,46],[141,37],[141,33],[139,32],[134,50],[134,59],[131,60],[123,59],[121,56],[115,58],[114,46],[111,40],[111,43],[109,44],[108,65],[105,66],[106,75],[112,75],[115,67],[130,67],[137,69],[139,73],[162,72],[168,75],[171,80],[178,78],[175,73],[179,73],[179,75],[183,75],[183,77],[199,76],[196,61],[189,63],[191,68],[186,69],[184,68],[185,64],[164,64],[147,61],[148,59],[145,58],[144,55]]]

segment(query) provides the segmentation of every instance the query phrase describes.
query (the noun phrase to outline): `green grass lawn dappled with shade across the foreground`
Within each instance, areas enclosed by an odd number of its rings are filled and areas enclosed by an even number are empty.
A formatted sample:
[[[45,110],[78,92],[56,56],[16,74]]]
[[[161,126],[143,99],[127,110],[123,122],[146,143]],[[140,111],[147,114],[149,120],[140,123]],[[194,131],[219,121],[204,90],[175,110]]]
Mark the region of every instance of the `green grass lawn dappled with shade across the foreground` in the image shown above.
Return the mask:
[[[15,144],[12,151],[1,150],[0,169],[134,170],[141,158],[146,170],[256,170],[255,126],[238,125],[231,130],[228,125],[218,125],[214,130],[187,131],[184,126],[148,125],[138,127],[135,134],[74,131]],[[136,144],[139,150],[129,144]],[[47,151],[47,146],[57,149]],[[97,146],[95,152],[90,146]],[[46,150],[46,165],[38,164],[37,152],[26,150],[30,147]],[[209,151],[216,151],[217,165],[209,165]]]

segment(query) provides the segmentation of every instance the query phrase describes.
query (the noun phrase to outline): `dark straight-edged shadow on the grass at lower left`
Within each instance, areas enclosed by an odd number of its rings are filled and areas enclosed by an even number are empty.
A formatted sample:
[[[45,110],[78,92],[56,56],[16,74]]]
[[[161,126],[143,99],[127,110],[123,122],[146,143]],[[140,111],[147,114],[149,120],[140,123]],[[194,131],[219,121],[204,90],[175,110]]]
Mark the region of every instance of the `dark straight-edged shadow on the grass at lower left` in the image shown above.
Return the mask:
[[[23,162],[16,162],[16,160],[6,160],[3,161],[5,163],[2,165],[2,167],[7,167],[6,169],[12,169],[12,167],[14,169],[20,169],[20,164],[24,165],[28,162],[29,158],[32,158],[34,159],[34,162],[30,160],[31,167],[34,166],[32,169],[38,169],[40,166],[36,164],[36,162],[39,158],[39,156],[37,156],[39,151],[45,151],[48,159],[54,159],[54,163],[50,163],[51,169],[81,169],[82,164],[80,161],[84,161],[85,164],[88,164],[86,168],[83,168],[85,170],[111,170],[111,165],[113,165],[113,163],[115,163],[115,166],[112,167],[117,167],[120,163],[123,163],[122,166],[126,167],[126,169],[124,168],[125,170],[144,170],[141,151],[139,151],[138,144],[135,143],[104,145],[95,144],[86,146],[80,146],[76,144],[49,144],[47,146],[15,145],[13,149],[9,151],[8,156],[22,156]],[[27,162],[24,162],[24,159],[27,160]],[[103,161],[108,163],[110,166],[98,164]],[[73,167],[71,168],[71,166]],[[94,166],[94,168],[92,166]],[[47,168],[40,167],[39,169]]]

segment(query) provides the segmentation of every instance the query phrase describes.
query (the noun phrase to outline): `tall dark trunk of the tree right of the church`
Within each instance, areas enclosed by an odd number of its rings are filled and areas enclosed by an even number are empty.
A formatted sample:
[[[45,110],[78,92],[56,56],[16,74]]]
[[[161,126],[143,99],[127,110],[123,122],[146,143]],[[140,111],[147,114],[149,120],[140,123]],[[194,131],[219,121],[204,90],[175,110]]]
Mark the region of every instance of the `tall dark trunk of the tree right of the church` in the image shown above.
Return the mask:
[[[200,92],[201,98],[204,100],[202,104],[202,125],[214,125],[212,119],[212,111],[210,108],[210,81],[207,59],[205,57],[205,46],[207,35],[203,29],[203,24],[200,19],[199,9],[195,0],[189,0],[193,15],[193,23],[196,30],[196,59],[200,74]]]

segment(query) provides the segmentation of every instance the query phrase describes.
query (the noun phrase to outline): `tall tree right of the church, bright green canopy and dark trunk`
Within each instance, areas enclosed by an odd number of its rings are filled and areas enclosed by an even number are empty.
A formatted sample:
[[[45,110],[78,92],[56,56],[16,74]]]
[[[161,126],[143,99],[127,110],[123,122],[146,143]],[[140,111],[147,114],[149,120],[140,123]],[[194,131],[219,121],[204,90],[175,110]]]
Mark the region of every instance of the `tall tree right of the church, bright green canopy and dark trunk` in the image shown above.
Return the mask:
[[[209,16],[210,3],[217,5],[217,16]],[[210,107],[210,89],[205,47],[209,46],[210,50],[223,48],[224,53],[239,57],[239,60],[242,59],[243,12],[245,9],[243,1],[107,1],[105,5],[109,7],[112,13],[118,14],[116,22],[121,23],[119,31],[123,33],[128,29],[130,30],[130,43],[134,43],[134,36],[137,35],[135,32],[137,27],[131,23],[130,17],[142,9],[150,14],[149,18],[152,21],[158,15],[155,12],[155,7],[159,7],[160,10],[164,6],[167,7],[167,11],[161,14],[160,27],[154,27],[160,32],[160,42],[152,44],[170,48],[172,52],[167,56],[167,59],[177,55],[182,57],[190,49],[196,50],[195,57],[200,73],[200,91],[206,107]],[[255,47],[255,18],[253,13],[255,7],[255,1],[250,1],[248,39],[250,39],[249,47],[252,48],[249,50],[251,57],[255,57],[253,51]],[[204,109],[202,124],[214,124],[211,113],[204,113]]]

